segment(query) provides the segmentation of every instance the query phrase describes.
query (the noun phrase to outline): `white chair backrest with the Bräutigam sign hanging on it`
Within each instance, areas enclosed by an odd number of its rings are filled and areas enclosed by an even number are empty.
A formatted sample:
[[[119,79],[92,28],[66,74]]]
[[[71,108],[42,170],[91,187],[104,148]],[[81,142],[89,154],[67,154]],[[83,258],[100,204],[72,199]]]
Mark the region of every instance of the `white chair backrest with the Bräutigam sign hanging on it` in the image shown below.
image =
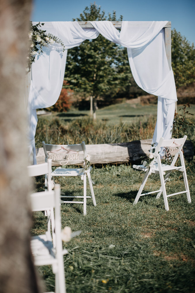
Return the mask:
[[[79,152],[83,152],[83,158],[87,156],[84,142],[65,145],[42,143],[46,159],[59,162],[62,166],[68,164],[69,161],[78,160]]]

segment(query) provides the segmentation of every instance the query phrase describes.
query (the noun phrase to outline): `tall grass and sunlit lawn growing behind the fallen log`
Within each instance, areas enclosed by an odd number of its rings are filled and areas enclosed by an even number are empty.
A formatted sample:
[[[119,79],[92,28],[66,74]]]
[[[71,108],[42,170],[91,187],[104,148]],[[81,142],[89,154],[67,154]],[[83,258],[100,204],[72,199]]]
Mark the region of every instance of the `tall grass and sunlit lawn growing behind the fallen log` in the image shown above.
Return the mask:
[[[195,112],[193,106],[189,109],[192,114]],[[35,144],[42,147],[43,140],[52,144],[77,144],[82,140],[85,144],[103,144],[150,139],[156,124],[156,107],[128,103],[110,105],[97,111],[95,122],[89,117],[89,111],[71,110],[39,116]],[[187,115],[187,118],[194,121],[194,116]],[[194,125],[186,128],[188,139],[195,144]]]

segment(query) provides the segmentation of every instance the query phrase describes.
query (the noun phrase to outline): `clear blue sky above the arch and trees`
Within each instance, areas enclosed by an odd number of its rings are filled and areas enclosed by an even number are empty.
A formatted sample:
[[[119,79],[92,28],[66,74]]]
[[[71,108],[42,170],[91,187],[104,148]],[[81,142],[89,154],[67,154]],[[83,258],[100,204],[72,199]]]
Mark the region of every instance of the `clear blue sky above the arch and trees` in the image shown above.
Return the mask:
[[[90,0],[34,0],[32,21],[72,21]],[[195,44],[195,0],[96,0],[105,14],[116,11],[125,21],[171,21],[172,29]]]

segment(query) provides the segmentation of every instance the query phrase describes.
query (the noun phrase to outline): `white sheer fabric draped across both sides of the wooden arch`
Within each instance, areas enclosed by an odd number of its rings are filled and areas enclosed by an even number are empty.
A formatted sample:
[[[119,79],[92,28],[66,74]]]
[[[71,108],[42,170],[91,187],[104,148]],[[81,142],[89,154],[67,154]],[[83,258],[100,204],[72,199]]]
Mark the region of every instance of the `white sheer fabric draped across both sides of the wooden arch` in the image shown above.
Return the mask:
[[[110,21],[91,21],[95,29],[82,29],[77,22],[46,22],[44,30],[60,38],[59,44],[49,45],[32,64],[32,81],[28,99],[29,152],[34,153],[37,126],[36,109],[54,105],[61,92],[67,50],[79,46],[86,39],[95,39],[101,33],[106,39],[127,47],[133,77],[144,91],[158,96],[157,122],[153,142],[160,137],[171,137],[172,122],[177,101],[172,69],[165,53],[163,27],[167,21],[123,21],[119,32]],[[36,24],[36,23],[33,23]]]

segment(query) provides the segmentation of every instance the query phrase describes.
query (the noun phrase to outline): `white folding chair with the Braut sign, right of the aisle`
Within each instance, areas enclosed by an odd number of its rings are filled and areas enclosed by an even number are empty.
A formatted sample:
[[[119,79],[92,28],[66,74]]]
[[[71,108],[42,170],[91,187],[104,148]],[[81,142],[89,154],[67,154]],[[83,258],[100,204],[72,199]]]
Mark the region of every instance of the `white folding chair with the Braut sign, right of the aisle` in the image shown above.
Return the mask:
[[[157,147],[151,149],[151,154],[153,156],[153,160],[151,161],[150,165],[149,166],[133,165],[133,168],[146,172],[144,179],[141,183],[141,186],[139,188],[139,191],[137,193],[137,196],[134,200],[134,203],[133,203],[134,205],[138,202],[140,196],[148,195],[148,194],[152,194],[152,193],[157,193],[156,198],[159,198],[161,193],[163,193],[165,209],[167,211],[169,210],[168,200],[167,200],[167,198],[169,196],[181,194],[181,193],[186,193],[188,202],[189,203],[191,202],[187,174],[186,174],[186,168],[185,168],[185,163],[184,163],[184,156],[183,156],[183,152],[182,152],[182,148],[183,148],[183,145],[186,141],[186,138],[187,138],[186,135],[184,135],[183,138],[178,138],[178,139],[163,139],[163,137],[161,137]],[[160,156],[159,152],[162,153],[162,151],[165,152],[165,157],[167,159],[172,157],[172,162],[170,165],[161,163],[161,156]],[[181,166],[175,166],[175,163],[177,161],[178,156],[180,156]],[[165,189],[165,184],[167,183],[167,180],[168,180],[169,175],[172,170],[180,171],[183,173],[185,190],[177,192],[177,193],[167,194],[166,189]],[[165,173],[166,171],[167,171],[167,173]],[[159,190],[155,190],[152,192],[142,193],[142,190],[144,189],[144,185],[146,184],[146,181],[147,181],[149,175],[151,175],[151,173],[155,173],[155,174],[160,175],[161,188]],[[164,175],[165,175],[165,177],[164,177]]]

